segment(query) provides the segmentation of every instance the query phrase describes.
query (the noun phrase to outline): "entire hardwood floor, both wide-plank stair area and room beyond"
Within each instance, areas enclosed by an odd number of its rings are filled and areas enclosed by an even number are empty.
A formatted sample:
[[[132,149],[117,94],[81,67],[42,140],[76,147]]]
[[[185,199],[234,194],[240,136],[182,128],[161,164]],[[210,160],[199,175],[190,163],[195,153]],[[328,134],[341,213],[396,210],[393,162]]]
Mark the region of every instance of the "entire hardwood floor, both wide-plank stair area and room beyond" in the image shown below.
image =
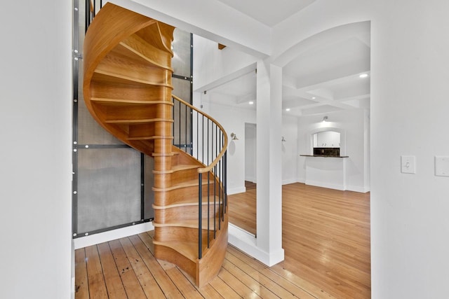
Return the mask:
[[[285,260],[267,267],[229,245],[218,276],[202,288],[154,258],[152,233],[77,249],[76,299],[370,298],[369,193],[283,186]]]

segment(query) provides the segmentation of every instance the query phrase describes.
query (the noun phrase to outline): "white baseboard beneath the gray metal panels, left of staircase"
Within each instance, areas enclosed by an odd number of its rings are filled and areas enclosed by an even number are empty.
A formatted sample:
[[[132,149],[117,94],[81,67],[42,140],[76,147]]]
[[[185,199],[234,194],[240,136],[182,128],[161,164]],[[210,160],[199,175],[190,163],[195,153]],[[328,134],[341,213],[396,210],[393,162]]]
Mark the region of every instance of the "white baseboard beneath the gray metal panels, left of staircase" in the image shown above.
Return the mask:
[[[80,249],[80,248],[91,246],[91,245],[109,242],[114,239],[120,239],[123,237],[137,235],[142,232],[147,232],[149,230],[154,230],[154,226],[153,226],[152,222],[140,223],[140,224],[136,224],[136,225],[132,225],[132,226],[127,226],[126,228],[118,228],[116,230],[100,232],[95,235],[79,237],[79,238],[76,238],[73,240],[74,249]]]

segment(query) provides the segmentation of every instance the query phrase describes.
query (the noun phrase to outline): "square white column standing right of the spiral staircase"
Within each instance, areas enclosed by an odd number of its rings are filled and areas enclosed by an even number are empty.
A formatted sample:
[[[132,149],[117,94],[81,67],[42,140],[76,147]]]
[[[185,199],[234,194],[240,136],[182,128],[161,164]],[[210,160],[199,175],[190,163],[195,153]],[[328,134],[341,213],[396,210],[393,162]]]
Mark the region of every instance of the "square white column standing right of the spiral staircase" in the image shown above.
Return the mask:
[[[283,260],[281,129],[282,69],[257,62],[257,248],[267,265]]]

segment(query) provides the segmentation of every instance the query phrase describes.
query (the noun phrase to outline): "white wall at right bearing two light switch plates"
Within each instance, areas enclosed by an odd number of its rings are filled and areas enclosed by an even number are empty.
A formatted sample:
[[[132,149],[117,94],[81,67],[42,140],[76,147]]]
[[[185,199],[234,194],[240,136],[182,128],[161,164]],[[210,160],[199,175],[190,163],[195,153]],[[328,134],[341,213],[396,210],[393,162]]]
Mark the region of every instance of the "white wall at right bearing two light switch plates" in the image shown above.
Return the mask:
[[[373,298],[444,298],[449,178],[434,176],[434,155],[449,155],[449,2],[384,5],[372,34]],[[416,156],[416,174],[401,174],[401,155]]]

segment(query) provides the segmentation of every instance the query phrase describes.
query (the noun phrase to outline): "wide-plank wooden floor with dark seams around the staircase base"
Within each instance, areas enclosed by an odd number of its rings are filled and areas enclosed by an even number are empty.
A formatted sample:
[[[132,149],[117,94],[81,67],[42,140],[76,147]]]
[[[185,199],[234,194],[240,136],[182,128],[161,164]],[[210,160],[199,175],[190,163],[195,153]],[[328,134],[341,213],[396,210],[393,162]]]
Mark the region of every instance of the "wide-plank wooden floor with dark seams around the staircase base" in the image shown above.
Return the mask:
[[[100,298],[321,298],[321,290],[282,267],[269,268],[229,245],[209,284],[153,255],[152,233],[75,251],[76,299]]]

